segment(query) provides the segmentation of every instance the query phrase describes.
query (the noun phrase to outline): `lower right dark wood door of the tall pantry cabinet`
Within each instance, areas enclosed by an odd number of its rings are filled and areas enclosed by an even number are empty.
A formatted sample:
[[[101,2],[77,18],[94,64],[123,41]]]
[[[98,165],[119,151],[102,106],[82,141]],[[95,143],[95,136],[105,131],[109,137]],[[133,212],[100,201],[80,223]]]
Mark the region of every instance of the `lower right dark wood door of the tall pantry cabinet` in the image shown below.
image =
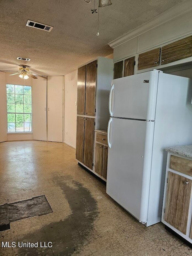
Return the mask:
[[[84,132],[84,157],[83,164],[93,169],[93,148],[94,148],[95,118],[85,118]]]

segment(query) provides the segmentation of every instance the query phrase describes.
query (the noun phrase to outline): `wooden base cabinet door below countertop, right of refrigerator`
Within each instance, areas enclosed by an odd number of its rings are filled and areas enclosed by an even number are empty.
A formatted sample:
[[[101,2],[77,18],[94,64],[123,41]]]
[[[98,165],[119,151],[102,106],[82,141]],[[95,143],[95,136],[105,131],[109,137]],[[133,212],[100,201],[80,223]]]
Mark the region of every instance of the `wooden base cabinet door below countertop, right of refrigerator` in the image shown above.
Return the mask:
[[[169,172],[164,220],[186,234],[191,180]]]

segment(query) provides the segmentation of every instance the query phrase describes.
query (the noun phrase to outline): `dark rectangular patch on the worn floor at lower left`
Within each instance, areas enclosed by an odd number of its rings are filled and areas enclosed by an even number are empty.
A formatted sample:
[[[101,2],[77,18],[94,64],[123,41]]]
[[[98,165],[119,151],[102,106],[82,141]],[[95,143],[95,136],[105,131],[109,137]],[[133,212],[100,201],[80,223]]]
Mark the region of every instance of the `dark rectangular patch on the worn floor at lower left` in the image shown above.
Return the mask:
[[[0,205],[0,231],[10,228],[9,223],[33,216],[53,212],[45,195],[31,199]]]

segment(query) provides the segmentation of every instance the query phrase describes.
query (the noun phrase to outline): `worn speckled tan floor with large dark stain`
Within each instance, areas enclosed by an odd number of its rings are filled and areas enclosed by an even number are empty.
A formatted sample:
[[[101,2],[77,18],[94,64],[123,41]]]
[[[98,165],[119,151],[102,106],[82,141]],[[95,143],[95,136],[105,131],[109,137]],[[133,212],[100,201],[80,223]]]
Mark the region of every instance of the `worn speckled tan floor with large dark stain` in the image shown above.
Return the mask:
[[[0,182],[0,205],[45,195],[53,210],[0,232],[0,242],[52,242],[52,248],[0,244],[0,255],[192,255],[162,223],[146,228],[122,209],[64,143],[0,143]]]

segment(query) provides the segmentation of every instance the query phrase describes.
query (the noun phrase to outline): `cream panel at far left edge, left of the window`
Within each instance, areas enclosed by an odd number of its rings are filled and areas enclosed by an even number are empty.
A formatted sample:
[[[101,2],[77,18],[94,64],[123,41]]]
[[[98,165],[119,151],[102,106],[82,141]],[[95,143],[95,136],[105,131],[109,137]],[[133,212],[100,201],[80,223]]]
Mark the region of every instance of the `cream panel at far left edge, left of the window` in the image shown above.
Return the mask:
[[[0,71],[0,142],[7,141],[6,74]]]

